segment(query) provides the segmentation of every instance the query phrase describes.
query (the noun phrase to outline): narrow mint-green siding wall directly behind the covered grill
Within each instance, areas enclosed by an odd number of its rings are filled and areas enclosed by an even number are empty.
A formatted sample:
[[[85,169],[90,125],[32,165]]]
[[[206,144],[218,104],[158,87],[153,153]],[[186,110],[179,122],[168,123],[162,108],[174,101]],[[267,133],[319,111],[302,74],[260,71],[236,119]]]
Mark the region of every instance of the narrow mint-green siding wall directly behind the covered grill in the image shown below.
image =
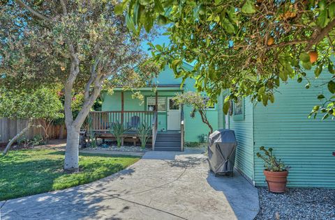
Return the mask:
[[[234,120],[230,116],[230,129],[237,137],[235,166],[250,180],[253,180],[253,105],[244,100],[244,119]]]

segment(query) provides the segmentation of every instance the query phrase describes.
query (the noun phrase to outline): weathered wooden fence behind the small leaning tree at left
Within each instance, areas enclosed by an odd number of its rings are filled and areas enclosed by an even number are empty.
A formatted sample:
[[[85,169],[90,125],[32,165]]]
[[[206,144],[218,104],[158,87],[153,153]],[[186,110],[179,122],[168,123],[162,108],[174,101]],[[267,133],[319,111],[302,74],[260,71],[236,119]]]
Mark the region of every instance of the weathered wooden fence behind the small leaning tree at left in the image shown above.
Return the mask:
[[[22,131],[27,126],[28,120],[10,120],[8,118],[0,118],[0,145],[7,143],[8,140],[12,139],[18,132]],[[39,121],[34,122],[38,125]],[[50,125],[48,129],[49,139],[65,139],[66,129],[64,125]],[[26,132],[25,136],[28,139],[32,139],[35,135],[41,134],[44,136],[44,130],[42,127],[31,127]]]

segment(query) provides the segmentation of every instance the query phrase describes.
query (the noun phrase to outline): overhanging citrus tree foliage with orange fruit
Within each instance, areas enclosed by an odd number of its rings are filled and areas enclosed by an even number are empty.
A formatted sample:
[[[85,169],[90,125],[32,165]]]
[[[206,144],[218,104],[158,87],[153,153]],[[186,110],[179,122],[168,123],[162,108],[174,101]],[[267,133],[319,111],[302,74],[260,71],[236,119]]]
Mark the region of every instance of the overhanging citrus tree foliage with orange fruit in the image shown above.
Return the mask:
[[[318,78],[324,68],[332,75],[327,84],[330,97],[319,95],[324,106],[313,113],[335,116],[335,2],[334,1],[168,1],[124,0],[117,11],[126,10],[128,28],[138,33],[144,26],[168,24],[170,45],[151,45],[154,60],[169,63],[177,77],[196,79],[198,91],[212,100],[229,90],[230,100],[250,96],[274,102],[281,81],[297,77],[299,82],[313,68]],[[188,71],[182,61],[195,63]]]

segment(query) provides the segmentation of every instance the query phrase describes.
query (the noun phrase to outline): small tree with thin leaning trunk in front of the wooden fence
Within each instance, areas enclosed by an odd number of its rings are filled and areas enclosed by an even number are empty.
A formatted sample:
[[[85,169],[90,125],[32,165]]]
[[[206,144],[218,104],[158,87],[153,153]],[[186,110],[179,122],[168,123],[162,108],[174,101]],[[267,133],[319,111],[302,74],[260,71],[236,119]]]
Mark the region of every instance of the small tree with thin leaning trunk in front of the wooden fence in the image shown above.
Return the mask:
[[[51,89],[40,88],[31,92],[27,90],[10,91],[6,88],[0,88],[0,117],[28,119],[27,126],[9,141],[3,155],[6,155],[10,146],[30,127],[41,126],[34,124],[34,120],[40,119],[47,122],[61,118],[63,116],[61,109],[63,109],[63,105],[57,93]],[[47,132],[47,128],[44,129]]]

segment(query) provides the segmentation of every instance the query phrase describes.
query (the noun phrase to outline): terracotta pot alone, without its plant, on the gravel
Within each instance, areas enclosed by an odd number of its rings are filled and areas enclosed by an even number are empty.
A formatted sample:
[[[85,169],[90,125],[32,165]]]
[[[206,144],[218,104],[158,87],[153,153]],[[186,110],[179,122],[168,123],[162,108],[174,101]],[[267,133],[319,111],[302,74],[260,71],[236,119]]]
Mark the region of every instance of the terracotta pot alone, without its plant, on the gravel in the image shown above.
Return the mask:
[[[269,191],[274,193],[283,193],[286,191],[286,182],[288,182],[288,171],[271,172],[263,171],[267,180]]]

